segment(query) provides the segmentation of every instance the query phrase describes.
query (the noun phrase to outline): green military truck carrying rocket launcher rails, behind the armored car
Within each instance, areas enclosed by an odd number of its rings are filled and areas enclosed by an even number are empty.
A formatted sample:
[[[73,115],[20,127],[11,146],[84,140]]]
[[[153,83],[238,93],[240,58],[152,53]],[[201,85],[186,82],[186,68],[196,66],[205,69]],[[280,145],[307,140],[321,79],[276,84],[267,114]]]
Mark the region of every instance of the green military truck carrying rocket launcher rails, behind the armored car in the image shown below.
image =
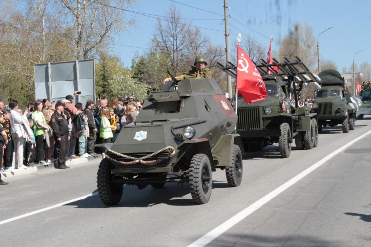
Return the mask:
[[[241,135],[245,150],[256,151],[278,143],[280,156],[288,158],[293,140],[297,149],[316,147],[317,115],[309,113],[308,106],[299,107],[298,102],[303,85],[318,82],[319,78],[297,57],[293,62],[285,58],[283,63],[274,60],[274,63],[268,64],[262,60],[255,65],[262,75],[268,97],[249,104],[238,97],[237,133]],[[219,63],[218,67],[235,78],[235,65],[228,63],[223,66]]]

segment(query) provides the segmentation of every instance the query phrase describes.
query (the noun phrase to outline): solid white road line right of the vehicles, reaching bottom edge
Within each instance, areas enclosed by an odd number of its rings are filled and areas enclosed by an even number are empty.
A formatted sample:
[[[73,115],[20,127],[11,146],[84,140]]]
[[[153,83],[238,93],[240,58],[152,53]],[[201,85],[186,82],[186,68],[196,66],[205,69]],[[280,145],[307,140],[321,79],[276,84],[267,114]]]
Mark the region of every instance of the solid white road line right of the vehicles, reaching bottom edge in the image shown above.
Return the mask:
[[[188,247],[204,247],[204,246],[206,246],[208,243],[210,243],[211,241],[213,241],[219,235],[221,235],[222,233],[224,233],[225,231],[227,231],[230,227],[236,225],[238,222],[240,222],[241,220],[245,219],[248,215],[250,215],[251,213],[253,213],[256,209],[258,209],[261,206],[265,205],[271,199],[275,198],[277,195],[279,195],[281,192],[285,191],[291,185],[294,185],[296,182],[298,182],[299,180],[301,180],[302,178],[304,178],[305,176],[307,176],[310,172],[314,171],[319,166],[321,166],[322,164],[324,164],[325,162],[327,162],[328,160],[330,160],[336,154],[340,153],[341,151],[343,151],[344,149],[346,149],[347,147],[349,147],[351,144],[353,144],[353,143],[361,140],[362,138],[364,138],[365,136],[369,135],[370,133],[371,133],[371,130],[369,130],[365,134],[357,137],[356,139],[352,140],[350,143],[345,144],[344,146],[336,149],[335,151],[333,151],[332,153],[330,153],[329,155],[327,155],[326,157],[324,157],[323,159],[321,159],[317,163],[311,165],[309,168],[307,168],[303,172],[299,173],[298,175],[296,175],[295,177],[293,177],[292,179],[290,179],[285,184],[279,186],[278,188],[276,188],[275,190],[273,190],[272,192],[270,192],[266,196],[262,197],[261,199],[259,199],[255,203],[251,204],[250,206],[248,206],[245,209],[243,209],[241,212],[239,212],[236,215],[234,215],[232,218],[230,218],[229,220],[227,220],[223,224],[221,224],[221,225],[217,226],[216,228],[214,228],[213,230],[209,231],[208,233],[206,233],[206,235],[202,236],[201,238],[199,238],[198,240],[196,240],[195,242],[193,242],[192,244],[190,244]]]

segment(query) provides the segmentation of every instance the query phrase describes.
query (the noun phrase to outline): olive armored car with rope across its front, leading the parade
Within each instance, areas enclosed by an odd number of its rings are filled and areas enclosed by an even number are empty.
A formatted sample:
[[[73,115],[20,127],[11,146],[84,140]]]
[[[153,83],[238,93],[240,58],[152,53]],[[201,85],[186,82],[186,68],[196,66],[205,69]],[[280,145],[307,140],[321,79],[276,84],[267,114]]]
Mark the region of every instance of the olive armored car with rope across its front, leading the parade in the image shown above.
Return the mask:
[[[205,204],[216,168],[225,170],[228,185],[241,184],[244,148],[235,133],[237,115],[217,82],[170,82],[152,93],[114,144],[104,145],[97,185],[105,205],[120,202],[123,185],[161,188],[171,182],[189,183],[194,202]]]

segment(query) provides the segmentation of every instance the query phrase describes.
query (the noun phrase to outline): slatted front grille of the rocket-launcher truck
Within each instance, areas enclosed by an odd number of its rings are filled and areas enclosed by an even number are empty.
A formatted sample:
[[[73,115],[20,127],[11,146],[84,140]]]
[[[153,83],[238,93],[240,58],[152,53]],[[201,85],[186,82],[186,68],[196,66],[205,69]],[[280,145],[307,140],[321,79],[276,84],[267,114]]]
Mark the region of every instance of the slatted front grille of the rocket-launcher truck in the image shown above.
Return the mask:
[[[261,111],[259,107],[237,108],[237,130],[260,129]]]

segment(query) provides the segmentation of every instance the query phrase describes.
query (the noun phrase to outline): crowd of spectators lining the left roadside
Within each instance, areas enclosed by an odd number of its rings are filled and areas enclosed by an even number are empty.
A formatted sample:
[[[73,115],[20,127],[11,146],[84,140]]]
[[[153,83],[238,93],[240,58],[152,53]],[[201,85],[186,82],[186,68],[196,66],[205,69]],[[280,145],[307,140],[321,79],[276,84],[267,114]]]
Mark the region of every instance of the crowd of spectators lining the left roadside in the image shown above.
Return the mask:
[[[124,125],[135,121],[141,102],[134,97],[87,100],[73,104],[75,91],[58,102],[48,99],[29,103],[24,111],[17,100],[8,109],[0,101],[1,173],[56,162],[67,169],[65,161],[103,152],[96,144],[113,143]]]

